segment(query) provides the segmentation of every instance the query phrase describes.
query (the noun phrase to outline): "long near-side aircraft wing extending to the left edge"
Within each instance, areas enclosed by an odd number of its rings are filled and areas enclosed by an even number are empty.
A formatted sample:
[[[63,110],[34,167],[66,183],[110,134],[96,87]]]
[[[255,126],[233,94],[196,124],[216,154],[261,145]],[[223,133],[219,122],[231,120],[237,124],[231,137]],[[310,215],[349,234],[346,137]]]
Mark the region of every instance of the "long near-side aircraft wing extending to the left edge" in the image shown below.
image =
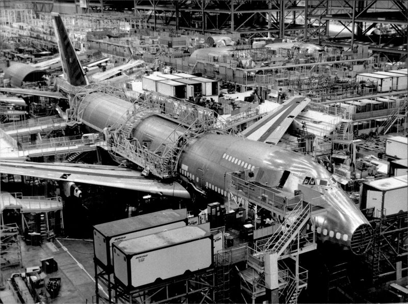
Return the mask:
[[[71,181],[179,198],[190,198],[188,191],[177,182],[160,182],[144,177],[138,171],[111,165],[1,160],[0,173],[35,176],[44,179]]]

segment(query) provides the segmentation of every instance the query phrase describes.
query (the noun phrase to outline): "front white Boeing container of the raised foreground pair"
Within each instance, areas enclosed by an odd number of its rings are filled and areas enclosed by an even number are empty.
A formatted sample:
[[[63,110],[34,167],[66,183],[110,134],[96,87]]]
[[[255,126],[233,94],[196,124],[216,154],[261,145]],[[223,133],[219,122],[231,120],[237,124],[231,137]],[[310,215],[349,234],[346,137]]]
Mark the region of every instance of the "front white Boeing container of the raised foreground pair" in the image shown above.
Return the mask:
[[[213,235],[186,226],[113,244],[115,281],[128,290],[211,267]]]

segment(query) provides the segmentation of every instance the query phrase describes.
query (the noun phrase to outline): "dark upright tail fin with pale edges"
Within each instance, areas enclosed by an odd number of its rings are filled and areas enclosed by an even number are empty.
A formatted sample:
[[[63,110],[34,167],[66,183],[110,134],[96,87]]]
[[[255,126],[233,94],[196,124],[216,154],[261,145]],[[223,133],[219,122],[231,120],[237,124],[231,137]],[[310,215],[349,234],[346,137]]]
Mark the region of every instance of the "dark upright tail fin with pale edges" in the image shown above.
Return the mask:
[[[86,86],[89,84],[88,79],[78,59],[77,52],[69,40],[61,16],[58,13],[52,13],[52,15],[54,16],[54,31],[60,50],[64,76],[72,86]]]

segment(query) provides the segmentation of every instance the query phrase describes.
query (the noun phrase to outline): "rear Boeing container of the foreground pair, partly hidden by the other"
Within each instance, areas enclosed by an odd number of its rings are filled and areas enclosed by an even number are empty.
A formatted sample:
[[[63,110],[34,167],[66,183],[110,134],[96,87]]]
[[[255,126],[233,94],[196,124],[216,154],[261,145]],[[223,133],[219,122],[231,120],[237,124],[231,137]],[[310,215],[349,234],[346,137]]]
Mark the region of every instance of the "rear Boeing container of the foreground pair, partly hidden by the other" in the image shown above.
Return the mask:
[[[94,226],[95,259],[106,270],[112,268],[112,244],[187,225],[187,209],[163,210]]]

